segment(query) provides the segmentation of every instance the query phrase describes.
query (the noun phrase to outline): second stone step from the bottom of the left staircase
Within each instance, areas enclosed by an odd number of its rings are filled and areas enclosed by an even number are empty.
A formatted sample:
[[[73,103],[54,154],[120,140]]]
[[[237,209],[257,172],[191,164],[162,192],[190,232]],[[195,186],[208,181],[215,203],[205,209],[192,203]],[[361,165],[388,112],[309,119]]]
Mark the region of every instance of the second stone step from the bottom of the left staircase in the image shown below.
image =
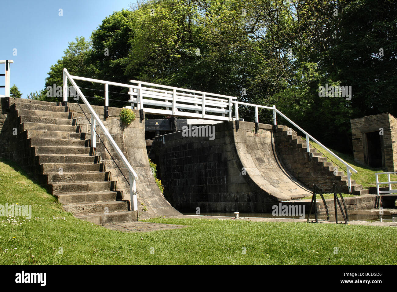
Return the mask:
[[[127,201],[76,203],[64,205],[64,209],[74,215],[95,213],[106,215],[106,213],[128,211],[128,203]]]

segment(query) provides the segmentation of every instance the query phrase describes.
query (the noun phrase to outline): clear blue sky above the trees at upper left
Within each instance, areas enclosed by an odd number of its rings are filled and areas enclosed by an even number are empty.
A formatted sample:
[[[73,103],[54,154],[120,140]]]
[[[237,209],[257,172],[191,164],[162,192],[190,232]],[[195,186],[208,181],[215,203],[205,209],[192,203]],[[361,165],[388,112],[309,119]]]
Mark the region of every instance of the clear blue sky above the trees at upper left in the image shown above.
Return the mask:
[[[129,9],[136,0],[0,0],[0,60],[11,64],[11,86],[22,97],[44,88],[50,66],[64,55],[75,37],[88,39],[114,11]],[[59,16],[59,9],[63,16]],[[13,55],[16,48],[17,55]],[[0,73],[5,65],[0,64]],[[4,85],[4,76],[0,76]],[[0,88],[4,95],[4,88]]]

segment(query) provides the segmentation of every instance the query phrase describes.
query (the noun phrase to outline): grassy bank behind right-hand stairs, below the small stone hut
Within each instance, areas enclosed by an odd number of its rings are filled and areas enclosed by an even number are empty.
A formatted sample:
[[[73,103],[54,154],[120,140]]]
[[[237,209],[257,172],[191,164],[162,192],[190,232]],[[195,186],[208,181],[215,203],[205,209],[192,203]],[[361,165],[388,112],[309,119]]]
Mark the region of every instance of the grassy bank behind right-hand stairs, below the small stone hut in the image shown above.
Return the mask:
[[[305,140],[305,139],[304,139]],[[325,155],[327,155],[328,157],[330,157],[333,161],[337,162],[337,164],[343,166],[343,169],[345,170],[346,168],[344,167],[343,164],[341,164],[341,162],[339,162],[335,157],[333,157],[333,155],[331,155],[328,151],[326,151],[323,147],[321,147],[320,145],[318,145],[317,143],[310,141],[310,144],[313,145],[314,148],[320,150],[321,153],[324,153]],[[355,180],[357,182],[357,184],[361,184],[364,188],[368,188],[368,187],[376,187],[376,179],[375,179],[375,172],[385,172],[384,170],[382,170],[382,168],[369,168],[367,166],[363,166],[362,164],[359,164],[357,162],[354,161],[354,157],[351,155],[347,155],[345,153],[341,153],[339,151],[330,149],[333,153],[335,153],[337,156],[339,156],[341,159],[343,159],[345,162],[347,162],[347,164],[350,164],[353,168],[355,168],[355,170],[357,170],[357,174],[352,173],[352,179]],[[327,158],[328,162],[332,162],[330,159]],[[337,167],[337,165],[335,163],[333,163],[333,165],[335,167]],[[341,171],[342,169],[340,167],[339,171]],[[345,172],[345,175],[346,172]],[[397,181],[397,175],[395,174],[391,174],[390,179],[392,181]],[[382,174],[379,176],[379,181],[380,182],[386,182],[387,181],[387,176],[386,174]],[[383,187],[387,187],[387,185],[382,185]],[[393,187],[396,187],[396,185],[392,185]]]

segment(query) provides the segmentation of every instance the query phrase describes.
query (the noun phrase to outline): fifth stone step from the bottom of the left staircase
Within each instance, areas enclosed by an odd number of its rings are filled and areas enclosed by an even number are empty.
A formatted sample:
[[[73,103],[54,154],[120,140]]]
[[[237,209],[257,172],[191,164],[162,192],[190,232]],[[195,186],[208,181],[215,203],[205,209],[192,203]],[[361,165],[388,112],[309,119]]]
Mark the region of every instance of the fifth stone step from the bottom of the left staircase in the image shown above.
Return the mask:
[[[42,182],[46,184],[60,182],[106,182],[111,179],[110,172],[64,172],[42,175]]]

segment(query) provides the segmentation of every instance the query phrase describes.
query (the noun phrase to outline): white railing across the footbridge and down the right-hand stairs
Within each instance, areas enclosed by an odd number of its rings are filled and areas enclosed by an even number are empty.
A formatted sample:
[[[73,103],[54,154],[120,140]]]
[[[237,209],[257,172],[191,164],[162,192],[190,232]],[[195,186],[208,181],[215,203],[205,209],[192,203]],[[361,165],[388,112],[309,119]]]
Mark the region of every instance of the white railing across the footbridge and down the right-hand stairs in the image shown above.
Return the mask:
[[[131,104],[129,108],[135,108],[149,114],[158,114],[164,116],[182,116],[188,118],[201,118],[216,121],[231,121],[239,120],[239,105],[250,106],[253,107],[255,111],[255,127],[257,128],[259,124],[259,109],[264,108],[266,110],[272,110],[274,125],[277,125],[277,114],[279,114],[280,116],[285,118],[285,120],[294,125],[297,129],[299,129],[302,133],[304,133],[304,135],[306,135],[306,151],[308,153],[310,153],[311,139],[346,166],[349,192],[351,192],[351,174],[352,172],[357,173],[357,170],[355,170],[352,166],[343,161],[343,159],[338,157],[330,149],[322,145],[322,143],[312,137],[312,135],[310,135],[297,124],[295,124],[292,120],[290,120],[287,116],[280,112],[276,108],[276,106],[270,107],[247,102],[240,102],[236,100],[237,97],[232,97],[228,95],[220,95],[204,91],[190,90],[137,80],[130,80],[132,84],[123,84],[73,75],[70,77],[75,80],[104,84],[105,107],[108,107],[109,105],[108,86],[114,85],[129,89],[129,102]],[[64,85],[64,88],[65,86],[66,85]],[[235,110],[234,117],[232,117],[233,105]]]

